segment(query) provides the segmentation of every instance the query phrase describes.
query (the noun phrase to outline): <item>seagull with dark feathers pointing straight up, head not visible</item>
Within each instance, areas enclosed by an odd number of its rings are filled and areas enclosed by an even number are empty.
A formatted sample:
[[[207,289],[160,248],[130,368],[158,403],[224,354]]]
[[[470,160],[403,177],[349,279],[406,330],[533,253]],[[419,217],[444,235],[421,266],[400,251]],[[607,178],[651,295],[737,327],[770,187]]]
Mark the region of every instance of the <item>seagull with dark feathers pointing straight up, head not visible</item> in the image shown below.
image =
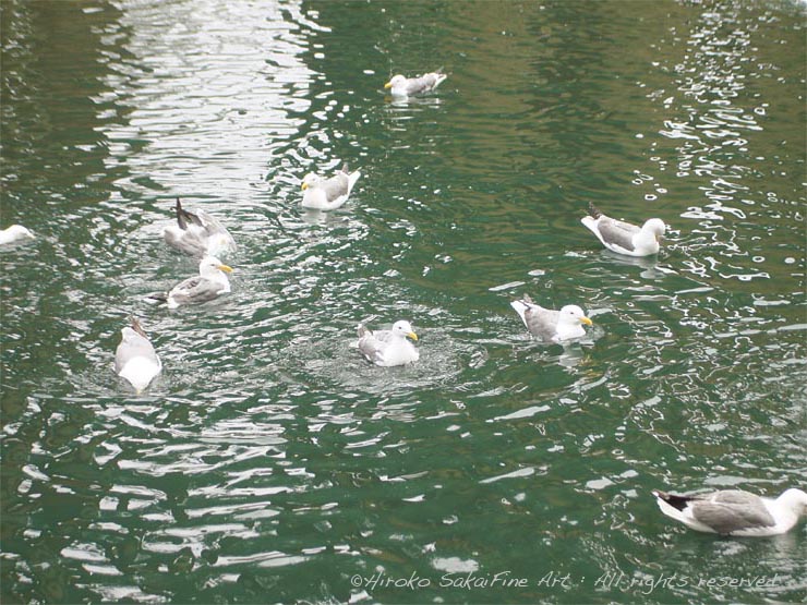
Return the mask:
[[[168,245],[180,252],[201,258],[205,255],[218,256],[236,250],[236,240],[221,223],[204,210],[189,213],[177,197],[177,225],[162,230]]]

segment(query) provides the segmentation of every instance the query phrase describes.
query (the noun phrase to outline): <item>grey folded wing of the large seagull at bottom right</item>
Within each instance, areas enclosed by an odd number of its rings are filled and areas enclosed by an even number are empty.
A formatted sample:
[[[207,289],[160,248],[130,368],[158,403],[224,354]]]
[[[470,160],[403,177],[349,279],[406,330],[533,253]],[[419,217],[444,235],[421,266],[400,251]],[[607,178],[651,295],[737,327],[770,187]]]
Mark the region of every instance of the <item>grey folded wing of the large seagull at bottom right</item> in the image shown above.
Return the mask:
[[[759,496],[725,489],[690,503],[692,517],[721,534],[776,524]]]

